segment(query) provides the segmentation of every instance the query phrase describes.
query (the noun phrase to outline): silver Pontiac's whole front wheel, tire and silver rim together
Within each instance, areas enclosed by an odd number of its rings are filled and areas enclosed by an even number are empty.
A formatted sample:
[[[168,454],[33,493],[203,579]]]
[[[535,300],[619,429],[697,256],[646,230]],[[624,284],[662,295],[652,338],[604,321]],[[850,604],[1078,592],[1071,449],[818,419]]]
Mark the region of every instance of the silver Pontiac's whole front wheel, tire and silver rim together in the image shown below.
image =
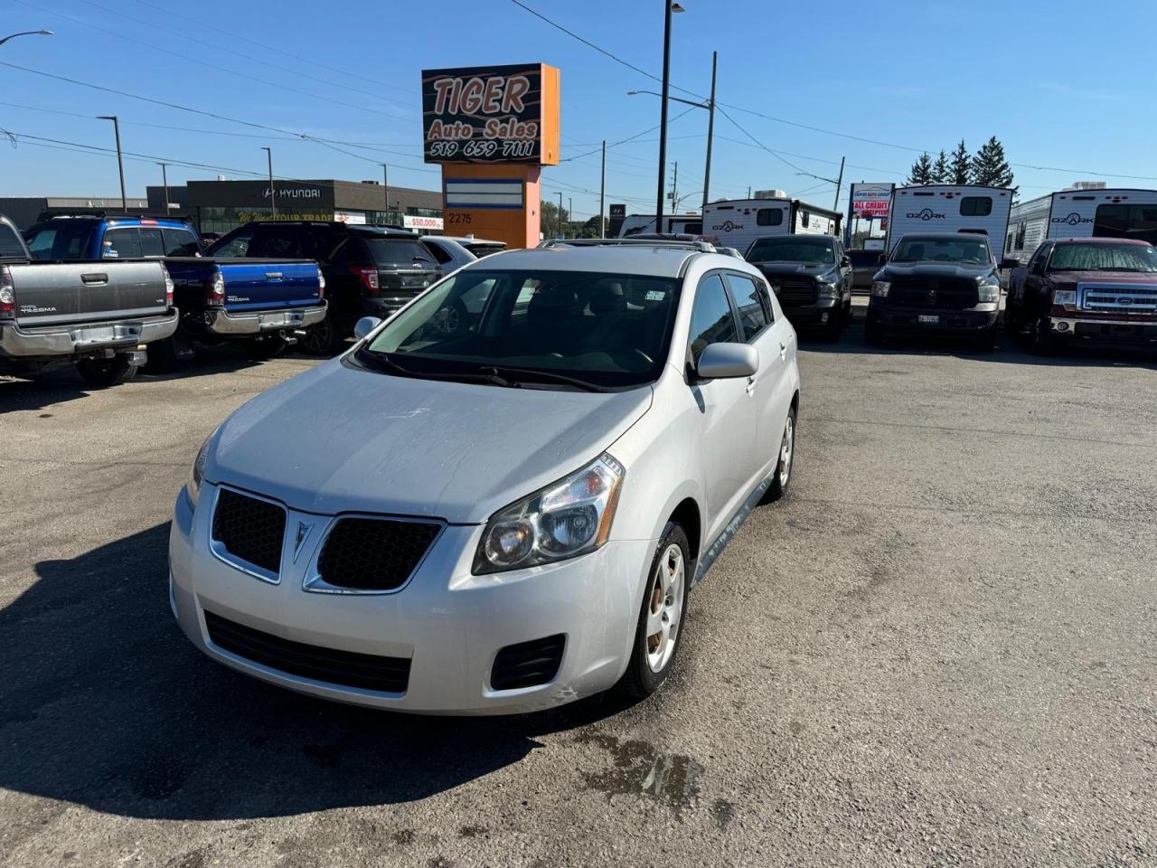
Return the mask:
[[[668,522],[648,573],[627,671],[619,681],[620,690],[629,697],[649,697],[671,672],[683,639],[692,567],[687,535]]]

